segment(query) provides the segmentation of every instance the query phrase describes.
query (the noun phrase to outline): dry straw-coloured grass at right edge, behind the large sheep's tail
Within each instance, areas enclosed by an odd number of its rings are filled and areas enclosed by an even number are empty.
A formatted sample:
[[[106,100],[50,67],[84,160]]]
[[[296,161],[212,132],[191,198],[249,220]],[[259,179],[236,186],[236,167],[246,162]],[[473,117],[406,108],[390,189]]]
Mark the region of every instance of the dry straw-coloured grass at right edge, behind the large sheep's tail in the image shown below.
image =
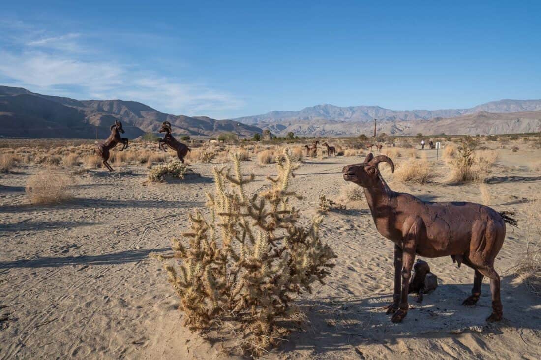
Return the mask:
[[[541,295],[541,199],[530,202],[522,223],[526,255],[520,259],[514,273],[528,290]]]

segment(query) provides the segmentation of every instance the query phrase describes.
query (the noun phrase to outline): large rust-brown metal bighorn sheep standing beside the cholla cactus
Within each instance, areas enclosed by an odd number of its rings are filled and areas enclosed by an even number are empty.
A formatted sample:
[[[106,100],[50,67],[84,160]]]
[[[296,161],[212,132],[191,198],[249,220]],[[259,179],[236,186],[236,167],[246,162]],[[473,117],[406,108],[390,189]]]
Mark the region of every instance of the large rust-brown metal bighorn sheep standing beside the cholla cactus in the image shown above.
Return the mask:
[[[463,305],[474,305],[481,295],[483,277],[490,278],[492,314],[487,321],[502,319],[500,277],[494,270],[494,258],[505,239],[505,222],[516,224],[509,216],[488,206],[447,202],[430,203],[387,186],[378,169],[387,162],[385,155],[368,154],[364,163],[347,165],[342,170],[345,181],[360,185],[379,233],[394,242],[394,294],[387,314],[401,322],[408,310],[408,281],[415,254],[424,257],[451,256],[475,272],[472,295]]]

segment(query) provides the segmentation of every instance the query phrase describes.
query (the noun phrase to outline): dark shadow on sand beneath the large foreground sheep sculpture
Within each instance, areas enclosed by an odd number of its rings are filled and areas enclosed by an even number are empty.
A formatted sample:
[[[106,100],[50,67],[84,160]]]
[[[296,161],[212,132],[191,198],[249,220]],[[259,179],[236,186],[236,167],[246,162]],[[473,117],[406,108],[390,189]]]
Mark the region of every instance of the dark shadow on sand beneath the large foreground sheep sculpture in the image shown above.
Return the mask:
[[[470,295],[471,284],[439,285],[434,292],[425,295],[422,304],[415,302],[416,295],[410,294],[410,310],[398,324],[392,323],[390,315],[386,315],[383,309],[391,303],[391,294],[360,299],[326,297],[302,301],[300,305],[307,309],[309,318],[308,329],[294,332],[288,342],[281,345],[281,350],[307,349],[313,355],[319,354],[318,358],[325,358],[325,352],[340,358],[340,352],[351,351],[352,346],[395,345],[407,339],[452,338],[464,332],[502,334],[505,328],[529,328],[535,334],[541,330],[541,321],[532,321],[532,317],[538,317],[538,304],[527,294],[524,286],[511,284],[513,278],[502,277],[504,319],[498,323],[485,320],[491,312],[488,284],[483,284],[481,298],[471,308],[461,305]],[[525,306],[517,308],[517,297]],[[535,339],[530,341],[535,342]]]

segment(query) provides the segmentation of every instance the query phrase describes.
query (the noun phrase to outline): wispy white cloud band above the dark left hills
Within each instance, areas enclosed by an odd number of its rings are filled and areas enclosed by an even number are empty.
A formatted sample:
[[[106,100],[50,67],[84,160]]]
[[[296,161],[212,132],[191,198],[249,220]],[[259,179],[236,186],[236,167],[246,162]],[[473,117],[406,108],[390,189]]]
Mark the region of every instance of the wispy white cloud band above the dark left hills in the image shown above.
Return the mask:
[[[82,34],[51,35],[16,25],[25,36],[17,46],[0,50],[0,81],[4,83],[50,95],[134,100],[171,114],[220,117],[243,106],[239,98],[206,84],[113,61],[114,54],[96,58],[98,51],[81,45]]]

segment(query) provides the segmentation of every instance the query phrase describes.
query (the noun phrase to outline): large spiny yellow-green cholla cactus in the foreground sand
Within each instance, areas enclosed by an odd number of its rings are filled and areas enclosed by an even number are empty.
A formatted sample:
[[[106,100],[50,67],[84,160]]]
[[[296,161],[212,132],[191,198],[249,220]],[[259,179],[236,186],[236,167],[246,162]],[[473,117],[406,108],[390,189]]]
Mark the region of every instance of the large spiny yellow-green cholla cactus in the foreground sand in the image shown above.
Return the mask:
[[[232,169],[214,169],[215,191],[207,193],[209,216],[196,210],[184,247],[173,241],[174,255],[165,262],[169,281],[181,299],[185,324],[192,330],[219,328],[223,321],[243,333],[240,349],[252,355],[276,345],[288,330],[279,321],[294,314],[292,295],[311,292],[322,283],[336,257],[318,236],[321,217],[307,228],[288,190],[296,166],[286,150],[272,188],[248,196],[240,159]],[[178,266],[168,259],[180,259]]]

